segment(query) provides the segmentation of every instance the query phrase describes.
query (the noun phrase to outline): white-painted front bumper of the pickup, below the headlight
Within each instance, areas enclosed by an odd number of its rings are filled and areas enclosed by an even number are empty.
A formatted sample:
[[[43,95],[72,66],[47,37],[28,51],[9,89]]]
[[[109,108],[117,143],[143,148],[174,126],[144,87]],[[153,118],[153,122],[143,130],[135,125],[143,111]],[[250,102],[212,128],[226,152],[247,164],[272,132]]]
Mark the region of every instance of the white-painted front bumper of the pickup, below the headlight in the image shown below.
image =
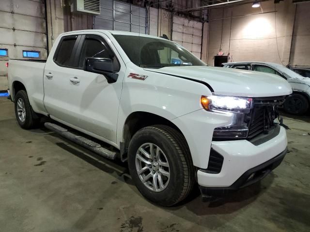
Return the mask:
[[[212,174],[203,169],[198,170],[198,184],[202,188],[229,188],[248,170],[260,167],[268,160],[278,157],[279,154],[286,153],[286,131],[280,127],[277,136],[260,145],[254,145],[247,140],[235,140],[213,141],[211,147],[224,158],[221,171],[218,174]]]

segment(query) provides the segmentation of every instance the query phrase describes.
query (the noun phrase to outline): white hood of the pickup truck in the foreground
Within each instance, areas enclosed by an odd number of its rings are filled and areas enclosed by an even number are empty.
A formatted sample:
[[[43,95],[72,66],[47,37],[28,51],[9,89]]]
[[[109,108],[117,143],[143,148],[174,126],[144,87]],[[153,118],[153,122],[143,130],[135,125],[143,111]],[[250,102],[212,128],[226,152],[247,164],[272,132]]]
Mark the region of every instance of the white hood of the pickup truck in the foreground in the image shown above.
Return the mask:
[[[215,94],[240,97],[272,97],[292,93],[290,84],[275,74],[209,66],[145,69],[156,73],[186,77],[211,86]]]

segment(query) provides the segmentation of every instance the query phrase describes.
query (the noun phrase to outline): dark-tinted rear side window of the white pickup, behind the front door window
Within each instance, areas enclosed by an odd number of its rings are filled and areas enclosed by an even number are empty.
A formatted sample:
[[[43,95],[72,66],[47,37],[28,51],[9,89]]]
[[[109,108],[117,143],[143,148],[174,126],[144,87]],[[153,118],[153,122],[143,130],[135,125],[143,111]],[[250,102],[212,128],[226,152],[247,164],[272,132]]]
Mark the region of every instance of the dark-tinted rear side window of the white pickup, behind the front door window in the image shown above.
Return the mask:
[[[73,67],[73,60],[75,56],[75,47],[78,36],[64,36],[57,47],[54,61],[60,66]]]

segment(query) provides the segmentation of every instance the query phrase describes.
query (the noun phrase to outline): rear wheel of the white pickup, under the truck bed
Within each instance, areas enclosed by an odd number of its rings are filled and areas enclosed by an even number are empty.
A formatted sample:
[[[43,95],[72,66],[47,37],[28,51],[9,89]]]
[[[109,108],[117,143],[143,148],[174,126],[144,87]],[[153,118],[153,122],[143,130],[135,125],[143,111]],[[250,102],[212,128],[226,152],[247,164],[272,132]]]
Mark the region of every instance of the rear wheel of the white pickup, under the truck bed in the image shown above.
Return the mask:
[[[25,90],[19,90],[16,93],[14,103],[15,103],[15,116],[19,126],[26,130],[37,127],[38,124],[40,123],[40,118],[33,118],[30,102],[28,99],[27,92]],[[23,113],[25,113],[24,116],[21,116],[20,114]]]

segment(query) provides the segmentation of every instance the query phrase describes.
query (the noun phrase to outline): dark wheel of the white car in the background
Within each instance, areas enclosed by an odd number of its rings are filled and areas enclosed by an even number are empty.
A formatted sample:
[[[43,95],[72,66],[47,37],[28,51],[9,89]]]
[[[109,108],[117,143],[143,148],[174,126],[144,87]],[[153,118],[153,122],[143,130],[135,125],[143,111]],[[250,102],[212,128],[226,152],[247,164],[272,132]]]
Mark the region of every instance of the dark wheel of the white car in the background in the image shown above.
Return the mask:
[[[309,102],[303,95],[294,93],[286,98],[283,108],[289,114],[303,115],[309,108]]]

